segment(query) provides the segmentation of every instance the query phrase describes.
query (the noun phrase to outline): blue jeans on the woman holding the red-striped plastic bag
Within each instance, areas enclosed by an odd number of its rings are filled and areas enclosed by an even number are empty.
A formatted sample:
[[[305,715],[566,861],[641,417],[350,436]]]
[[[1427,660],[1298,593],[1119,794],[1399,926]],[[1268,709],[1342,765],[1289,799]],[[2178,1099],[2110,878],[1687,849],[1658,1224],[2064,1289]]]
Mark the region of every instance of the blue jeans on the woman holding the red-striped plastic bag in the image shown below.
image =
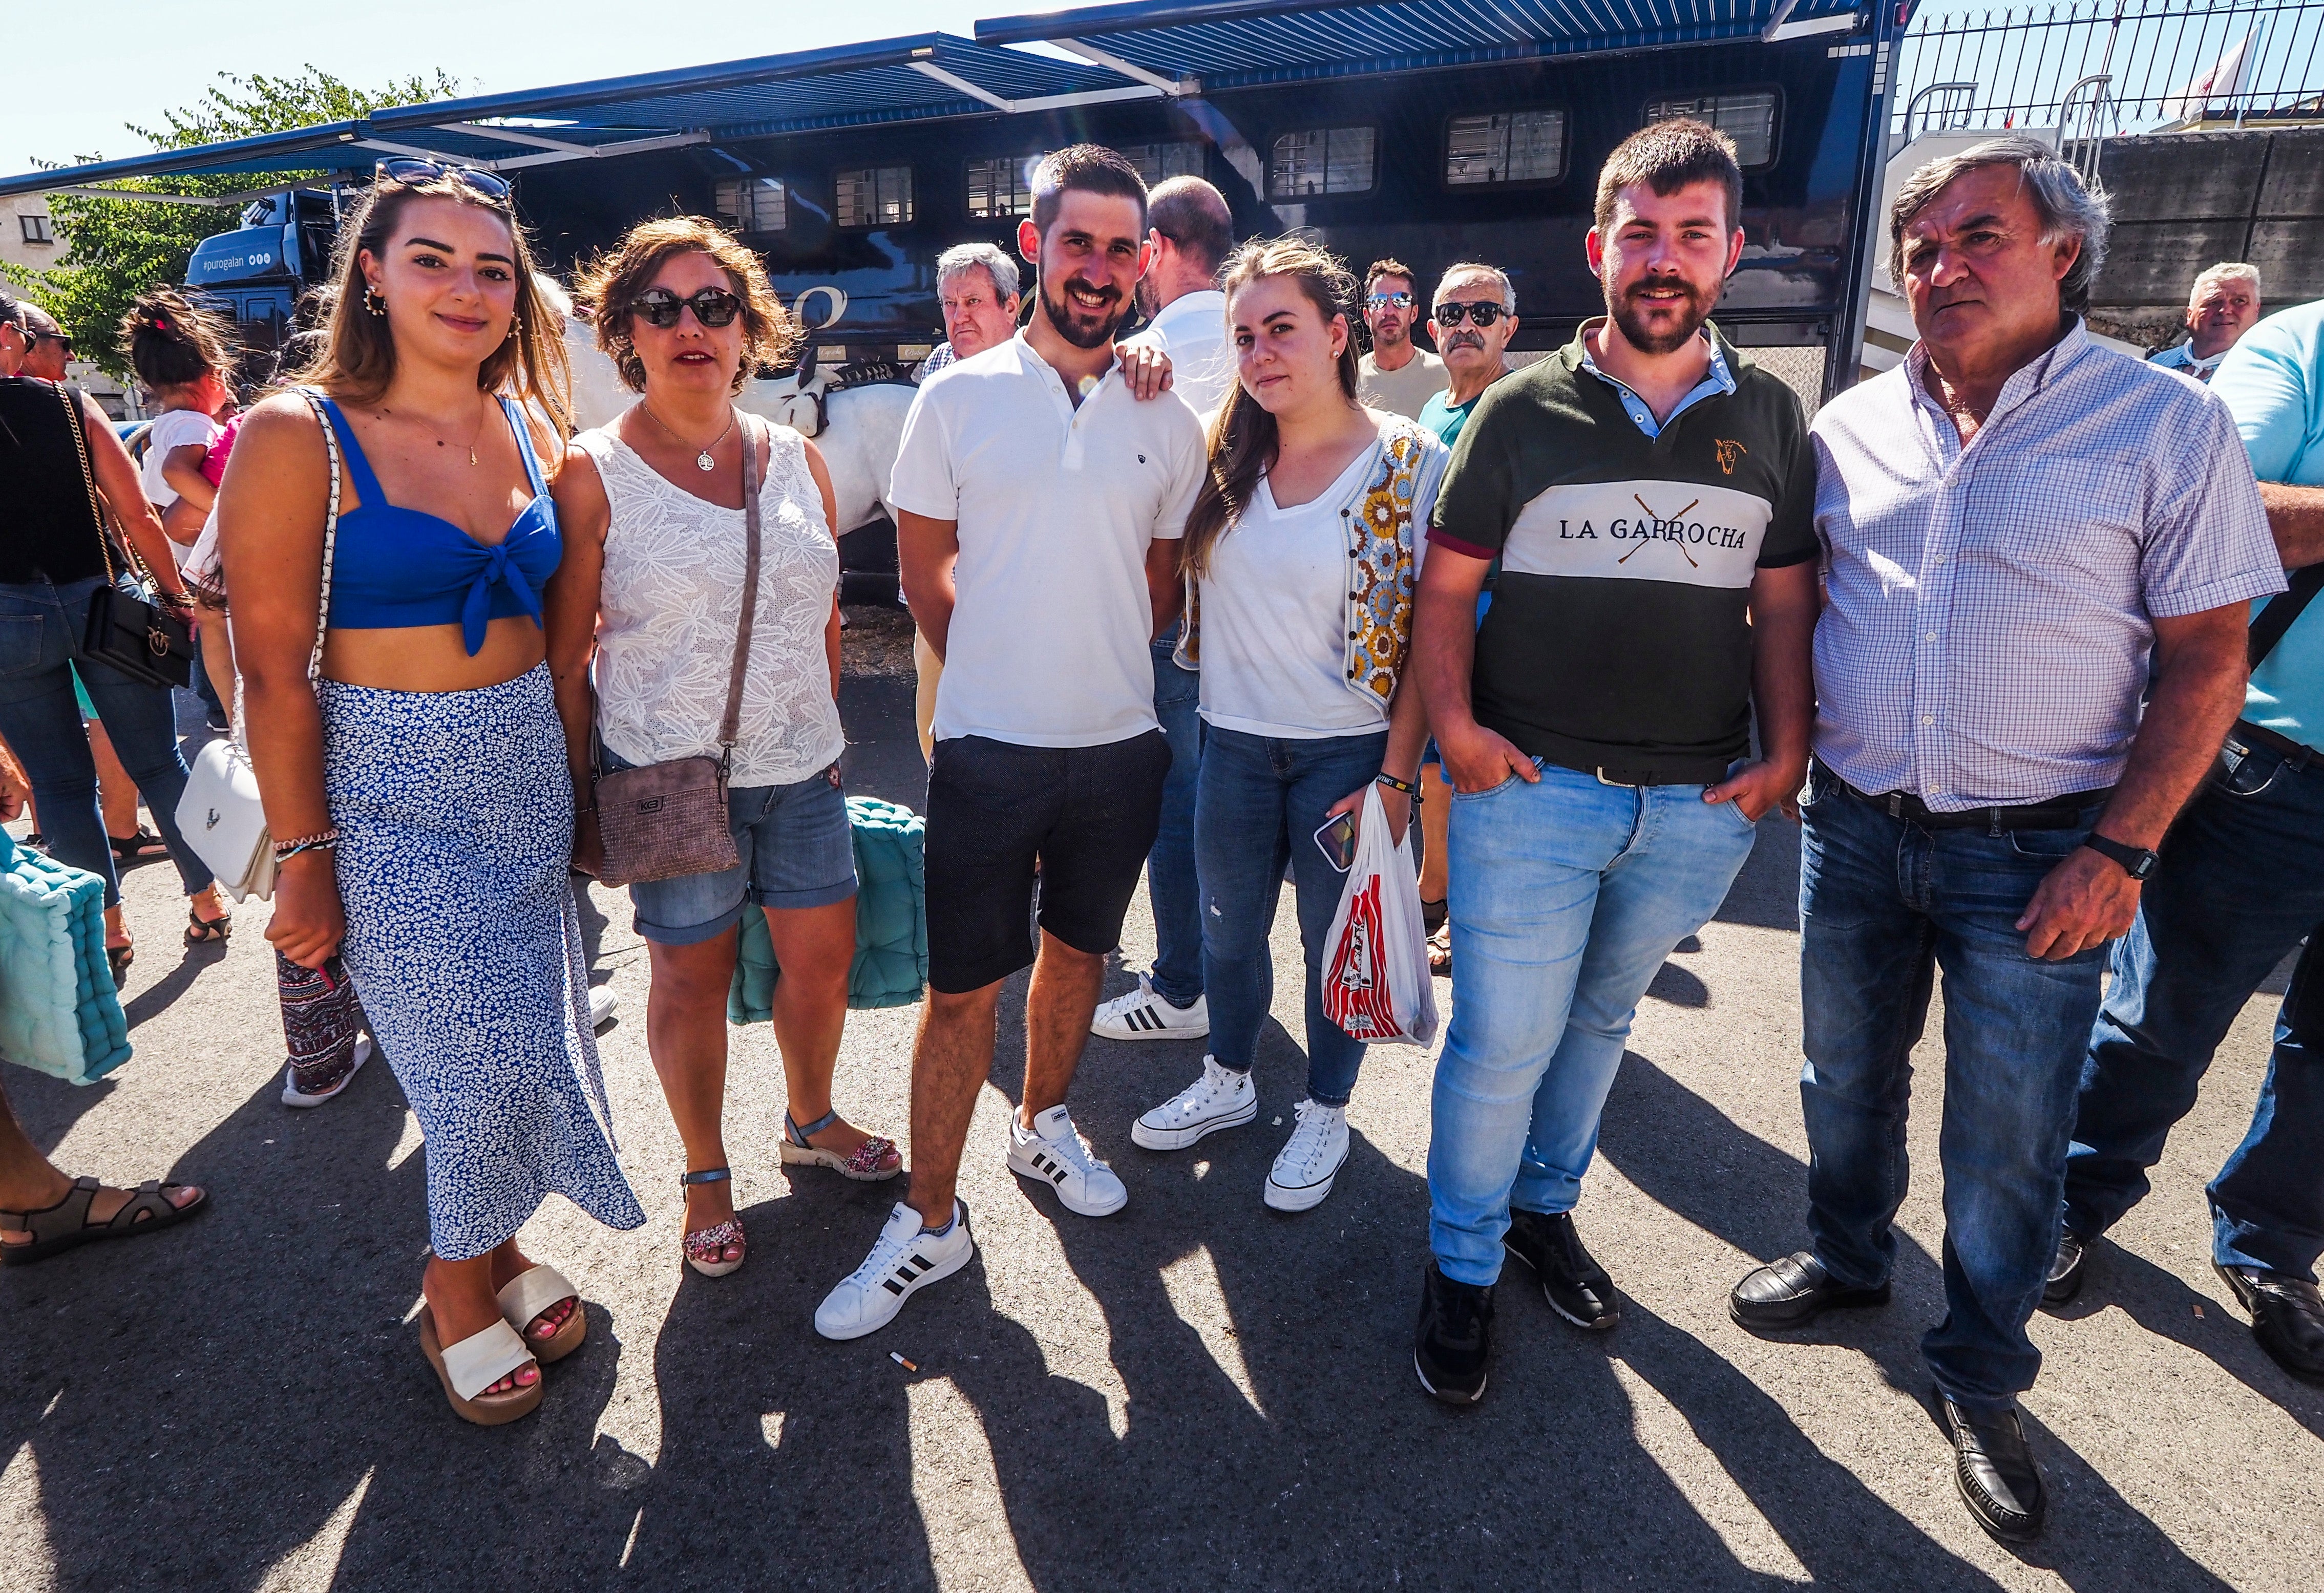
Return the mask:
[[[1211,996],[1211,1054],[1250,1071],[1260,1024],[1276,999],[1267,931],[1276,924],[1283,866],[1299,906],[1306,952],[1308,1098],[1348,1105],[1364,1043],[1322,1015],[1322,957],[1348,875],[1315,845],[1325,813],[1380,773],[1387,731],[1271,741],[1236,729],[1204,729],[1202,790],[1195,799],[1195,859],[1202,868],[1202,978]]]

